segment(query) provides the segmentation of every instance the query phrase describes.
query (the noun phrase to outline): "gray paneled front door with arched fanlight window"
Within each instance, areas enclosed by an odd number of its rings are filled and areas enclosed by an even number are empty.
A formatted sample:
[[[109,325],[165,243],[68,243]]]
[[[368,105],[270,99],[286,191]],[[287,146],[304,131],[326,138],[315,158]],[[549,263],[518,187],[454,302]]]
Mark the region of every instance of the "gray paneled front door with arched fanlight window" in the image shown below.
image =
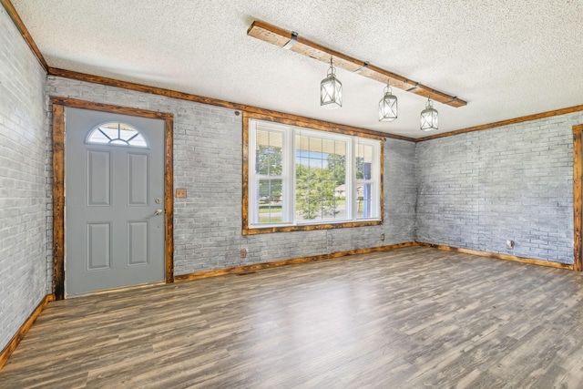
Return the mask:
[[[165,279],[164,121],[66,108],[67,296]]]

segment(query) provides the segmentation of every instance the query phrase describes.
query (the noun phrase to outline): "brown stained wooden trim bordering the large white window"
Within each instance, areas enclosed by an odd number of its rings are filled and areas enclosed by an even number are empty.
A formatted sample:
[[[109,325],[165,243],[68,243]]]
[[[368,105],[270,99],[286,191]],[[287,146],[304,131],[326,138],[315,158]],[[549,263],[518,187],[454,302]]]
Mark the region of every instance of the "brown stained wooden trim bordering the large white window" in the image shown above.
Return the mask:
[[[250,119],[260,119],[271,121],[274,123],[281,123],[295,127],[302,127],[308,129],[317,129],[321,131],[333,132],[337,134],[350,135],[354,137],[372,138],[381,142],[380,144],[380,174],[379,174],[379,199],[380,199],[380,220],[363,220],[363,221],[347,221],[340,223],[322,223],[322,224],[306,224],[296,226],[279,226],[279,227],[265,227],[265,228],[250,228],[249,227],[249,121]],[[243,111],[243,171],[242,171],[242,235],[257,235],[274,232],[291,232],[301,230],[332,230],[353,227],[368,227],[378,226],[384,223],[384,138],[371,135],[366,132],[359,132],[355,129],[345,129],[333,126],[328,126],[324,123],[306,123],[302,121],[293,120],[290,118],[271,117],[262,114]]]

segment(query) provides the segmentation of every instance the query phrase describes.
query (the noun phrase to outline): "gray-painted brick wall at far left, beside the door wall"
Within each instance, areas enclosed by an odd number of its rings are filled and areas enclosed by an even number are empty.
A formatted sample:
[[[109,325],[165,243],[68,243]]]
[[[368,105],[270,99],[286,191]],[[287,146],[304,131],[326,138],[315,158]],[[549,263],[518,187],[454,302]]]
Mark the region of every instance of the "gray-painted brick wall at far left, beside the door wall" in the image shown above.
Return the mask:
[[[46,295],[45,82],[0,6],[0,350]]]

